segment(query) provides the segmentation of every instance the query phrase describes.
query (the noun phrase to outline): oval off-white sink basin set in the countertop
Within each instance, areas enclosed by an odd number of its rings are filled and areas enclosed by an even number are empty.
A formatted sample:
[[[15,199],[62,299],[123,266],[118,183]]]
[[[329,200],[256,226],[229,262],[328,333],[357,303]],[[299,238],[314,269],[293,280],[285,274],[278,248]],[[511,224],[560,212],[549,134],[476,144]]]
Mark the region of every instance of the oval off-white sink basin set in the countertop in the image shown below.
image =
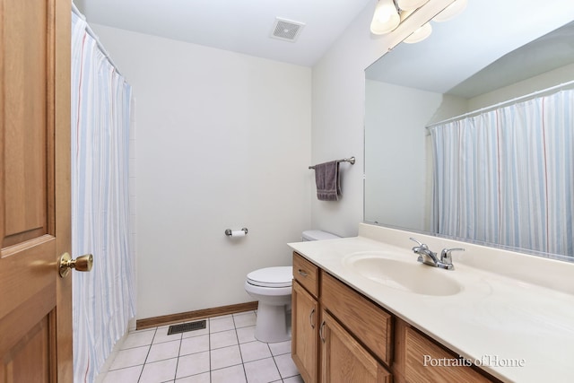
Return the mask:
[[[386,252],[353,253],[344,265],[371,281],[393,289],[422,295],[454,295],[462,286],[448,276],[448,271],[412,261],[396,259]]]

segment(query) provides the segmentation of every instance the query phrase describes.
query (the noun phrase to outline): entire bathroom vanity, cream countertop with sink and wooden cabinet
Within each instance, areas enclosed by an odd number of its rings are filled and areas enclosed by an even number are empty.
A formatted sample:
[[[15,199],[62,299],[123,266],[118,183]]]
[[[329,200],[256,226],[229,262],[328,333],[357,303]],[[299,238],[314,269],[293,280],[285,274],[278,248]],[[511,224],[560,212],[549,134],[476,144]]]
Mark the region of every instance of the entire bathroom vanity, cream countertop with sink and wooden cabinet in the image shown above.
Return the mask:
[[[409,233],[291,243],[292,358],[306,383],[574,381],[574,265]]]

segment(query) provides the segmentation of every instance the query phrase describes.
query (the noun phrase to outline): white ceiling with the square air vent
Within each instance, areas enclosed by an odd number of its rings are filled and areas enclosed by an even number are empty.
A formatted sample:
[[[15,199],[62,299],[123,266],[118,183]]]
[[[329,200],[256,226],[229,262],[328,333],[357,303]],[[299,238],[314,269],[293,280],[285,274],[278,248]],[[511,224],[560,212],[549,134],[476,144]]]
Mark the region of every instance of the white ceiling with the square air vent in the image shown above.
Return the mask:
[[[88,22],[312,66],[375,0],[74,0]],[[272,39],[275,18],[304,23]],[[369,25],[365,25],[369,28]]]

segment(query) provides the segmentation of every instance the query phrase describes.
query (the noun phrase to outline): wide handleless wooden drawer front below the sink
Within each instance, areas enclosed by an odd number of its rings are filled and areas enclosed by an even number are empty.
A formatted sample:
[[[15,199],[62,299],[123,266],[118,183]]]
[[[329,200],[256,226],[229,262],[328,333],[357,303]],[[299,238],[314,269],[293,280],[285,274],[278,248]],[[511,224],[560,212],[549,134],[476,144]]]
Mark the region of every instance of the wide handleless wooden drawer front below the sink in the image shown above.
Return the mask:
[[[321,302],[352,335],[390,365],[393,355],[392,319],[387,311],[323,271]]]

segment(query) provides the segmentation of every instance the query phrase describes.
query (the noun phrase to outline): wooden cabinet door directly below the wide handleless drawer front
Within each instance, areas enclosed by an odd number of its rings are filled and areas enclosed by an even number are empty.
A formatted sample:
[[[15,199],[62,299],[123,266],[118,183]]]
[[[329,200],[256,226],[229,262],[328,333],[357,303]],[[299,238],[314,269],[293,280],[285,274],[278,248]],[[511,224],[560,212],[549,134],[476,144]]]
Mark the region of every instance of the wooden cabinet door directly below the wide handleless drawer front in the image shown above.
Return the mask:
[[[321,312],[321,382],[390,383],[391,374],[335,318]]]

